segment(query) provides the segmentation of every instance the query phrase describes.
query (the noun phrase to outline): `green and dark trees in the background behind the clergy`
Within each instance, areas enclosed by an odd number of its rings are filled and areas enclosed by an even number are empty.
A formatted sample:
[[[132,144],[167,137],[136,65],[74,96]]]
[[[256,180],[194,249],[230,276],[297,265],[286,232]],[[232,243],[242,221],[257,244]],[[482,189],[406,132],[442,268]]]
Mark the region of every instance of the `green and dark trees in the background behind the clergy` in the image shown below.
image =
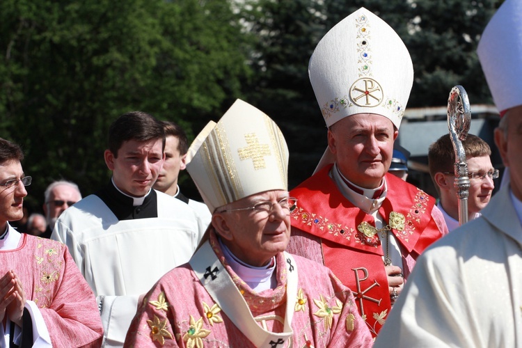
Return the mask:
[[[52,180],[84,196],[109,179],[106,131],[132,110],[175,120],[192,138],[240,97],[274,118],[290,148],[290,187],[326,148],[308,58],[364,6],[409,48],[409,107],[444,105],[463,85],[491,102],[475,49],[501,0],[0,1],[0,136],[22,145],[39,209]],[[196,196],[190,180],[182,186]]]

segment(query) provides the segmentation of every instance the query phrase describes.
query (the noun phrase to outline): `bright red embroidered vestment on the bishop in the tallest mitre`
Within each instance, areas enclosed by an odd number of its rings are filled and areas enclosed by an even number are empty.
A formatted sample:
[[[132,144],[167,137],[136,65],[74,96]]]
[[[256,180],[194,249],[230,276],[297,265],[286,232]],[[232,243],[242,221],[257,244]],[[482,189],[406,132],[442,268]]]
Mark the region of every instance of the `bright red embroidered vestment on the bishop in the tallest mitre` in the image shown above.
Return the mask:
[[[295,232],[319,237],[324,265],[354,292],[360,313],[375,336],[391,309],[383,264],[386,246],[381,246],[377,234],[386,232],[377,232],[373,217],[342,196],[329,177],[332,166],[325,166],[290,192],[298,199],[292,212],[292,239]],[[435,199],[393,175],[386,175],[386,183],[379,214],[400,245],[402,264],[398,266],[407,278],[418,255],[442,237],[432,219]],[[310,258],[311,246],[293,242],[288,251]]]

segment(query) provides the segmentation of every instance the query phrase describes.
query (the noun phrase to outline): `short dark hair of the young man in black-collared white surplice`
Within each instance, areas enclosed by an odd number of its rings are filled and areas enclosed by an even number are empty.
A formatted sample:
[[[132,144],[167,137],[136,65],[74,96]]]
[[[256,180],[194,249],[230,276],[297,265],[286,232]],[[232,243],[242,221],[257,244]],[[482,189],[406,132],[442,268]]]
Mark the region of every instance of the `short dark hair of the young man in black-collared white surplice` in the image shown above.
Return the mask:
[[[142,111],[125,113],[109,127],[109,151],[115,158],[125,141],[150,141],[161,139],[165,150],[165,132],[163,125],[154,116]]]

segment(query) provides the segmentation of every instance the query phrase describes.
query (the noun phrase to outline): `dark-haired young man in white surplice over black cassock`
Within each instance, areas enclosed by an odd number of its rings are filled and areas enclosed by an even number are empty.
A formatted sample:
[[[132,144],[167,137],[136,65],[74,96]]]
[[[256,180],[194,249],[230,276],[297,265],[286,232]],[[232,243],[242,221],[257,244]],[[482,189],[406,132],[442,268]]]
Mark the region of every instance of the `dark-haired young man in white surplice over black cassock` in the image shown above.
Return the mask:
[[[69,207],[52,239],[63,242],[97,296],[104,346],[121,347],[141,295],[187,262],[205,227],[185,203],[152,189],[164,164],[165,133],[148,113],[109,128],[108,184]]]

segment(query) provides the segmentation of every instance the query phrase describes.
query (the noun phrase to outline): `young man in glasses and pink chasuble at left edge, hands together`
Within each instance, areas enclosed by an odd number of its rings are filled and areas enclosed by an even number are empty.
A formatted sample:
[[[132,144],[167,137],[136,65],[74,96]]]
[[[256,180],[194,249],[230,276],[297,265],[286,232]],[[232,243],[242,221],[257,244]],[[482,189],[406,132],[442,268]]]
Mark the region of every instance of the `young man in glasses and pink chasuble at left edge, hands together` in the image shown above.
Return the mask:
[[[96,301],[67,247],[9,225],[31,184],[23,158],[0,139],[0,347],[100,347]]]

